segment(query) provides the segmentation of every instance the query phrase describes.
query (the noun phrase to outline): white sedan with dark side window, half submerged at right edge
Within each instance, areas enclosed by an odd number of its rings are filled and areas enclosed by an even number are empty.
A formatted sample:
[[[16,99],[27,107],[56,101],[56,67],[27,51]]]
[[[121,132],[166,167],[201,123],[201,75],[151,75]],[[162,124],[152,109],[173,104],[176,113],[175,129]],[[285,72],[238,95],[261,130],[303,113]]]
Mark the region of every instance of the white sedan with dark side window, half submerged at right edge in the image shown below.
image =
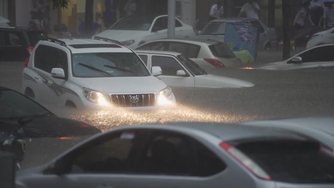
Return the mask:
[[[282,62],[264,64],[259,69],[287,70],[334,67],[334,44],[318,45]]]

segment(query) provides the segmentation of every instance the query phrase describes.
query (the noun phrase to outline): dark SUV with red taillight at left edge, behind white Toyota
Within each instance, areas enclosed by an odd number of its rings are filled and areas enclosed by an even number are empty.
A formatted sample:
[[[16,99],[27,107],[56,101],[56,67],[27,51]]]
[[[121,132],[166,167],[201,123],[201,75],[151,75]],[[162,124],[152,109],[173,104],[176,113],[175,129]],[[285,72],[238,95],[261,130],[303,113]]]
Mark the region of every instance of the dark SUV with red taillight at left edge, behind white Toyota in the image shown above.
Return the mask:
[[[25,61],[44,36],[42,30],[0,26],[0,61]]]

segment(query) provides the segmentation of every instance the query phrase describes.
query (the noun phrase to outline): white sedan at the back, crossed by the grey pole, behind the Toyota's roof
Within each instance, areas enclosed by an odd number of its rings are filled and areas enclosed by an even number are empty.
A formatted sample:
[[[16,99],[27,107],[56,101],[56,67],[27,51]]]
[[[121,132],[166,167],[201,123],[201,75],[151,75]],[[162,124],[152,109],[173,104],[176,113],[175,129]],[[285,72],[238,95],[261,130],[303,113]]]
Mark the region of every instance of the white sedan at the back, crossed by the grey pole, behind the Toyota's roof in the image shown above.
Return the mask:
[[[168,16],[128,16],[117,21],[108,30],[97,34],[111,40],[122,42],[132,49],[143,43],[167,38]],[[192,26],[175,18],[175,37],[191,38],[196,33]],[[95,36],[94,36],[95,37]]]

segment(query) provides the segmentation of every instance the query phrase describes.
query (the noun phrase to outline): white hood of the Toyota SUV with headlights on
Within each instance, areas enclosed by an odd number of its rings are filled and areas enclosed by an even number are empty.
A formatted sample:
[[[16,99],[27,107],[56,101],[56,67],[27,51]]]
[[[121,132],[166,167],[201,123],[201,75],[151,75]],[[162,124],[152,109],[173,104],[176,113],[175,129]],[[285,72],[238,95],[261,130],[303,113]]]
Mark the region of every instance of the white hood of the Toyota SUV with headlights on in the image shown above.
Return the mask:
[[[75,78],[76,83],[92,90],[112,93],[154,93],[167,87],[154,76],[146,77],[111,77],[111,78]]]

